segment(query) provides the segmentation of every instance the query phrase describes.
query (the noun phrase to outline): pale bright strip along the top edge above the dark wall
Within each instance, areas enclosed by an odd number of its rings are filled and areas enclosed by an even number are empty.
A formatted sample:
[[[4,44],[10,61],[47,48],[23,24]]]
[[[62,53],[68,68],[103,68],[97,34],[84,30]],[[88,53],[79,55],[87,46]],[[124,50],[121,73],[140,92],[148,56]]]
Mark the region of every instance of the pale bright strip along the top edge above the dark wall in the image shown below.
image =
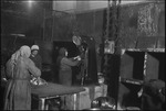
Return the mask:
[[[146,0],[121,0],[121,4],[135,4],[139,2],[145,2]],[[110,1],[112,4],[112,0]],[[53,1],[53,10],[63,11],[69,13],[79,13],[91,10],[98,10],[107,8],[107,0],[54,0]]]

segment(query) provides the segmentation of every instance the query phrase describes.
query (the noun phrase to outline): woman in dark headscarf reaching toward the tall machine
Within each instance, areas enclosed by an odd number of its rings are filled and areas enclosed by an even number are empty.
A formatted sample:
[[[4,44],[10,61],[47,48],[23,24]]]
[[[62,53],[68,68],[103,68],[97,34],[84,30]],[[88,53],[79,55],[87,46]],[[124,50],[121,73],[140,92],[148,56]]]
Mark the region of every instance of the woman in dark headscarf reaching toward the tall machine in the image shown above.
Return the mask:
[[[80,56],[74,58],[68,58],[68,51],[61,47],[59,51],[59,56],[56,64],[59,66],[59,81],[62,85],[72,85],[72,66],[76,66],[81,60]]]

